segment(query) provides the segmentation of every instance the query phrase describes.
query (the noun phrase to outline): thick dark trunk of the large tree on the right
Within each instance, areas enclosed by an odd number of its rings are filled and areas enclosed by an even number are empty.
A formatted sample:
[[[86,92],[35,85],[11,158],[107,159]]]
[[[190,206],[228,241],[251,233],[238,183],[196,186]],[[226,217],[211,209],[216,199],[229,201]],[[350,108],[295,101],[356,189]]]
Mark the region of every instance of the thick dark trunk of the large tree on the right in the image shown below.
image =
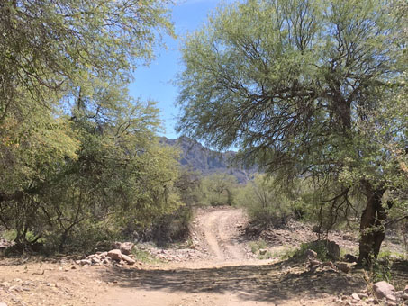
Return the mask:
[[[387,211],[382,205],[385,189],[374,189],[370,184],[366,184],[366,193],[367,207],[360,222],[359,264],[363,262],[370,264],[373,258],[376,259],[385,238],[384,224]]]

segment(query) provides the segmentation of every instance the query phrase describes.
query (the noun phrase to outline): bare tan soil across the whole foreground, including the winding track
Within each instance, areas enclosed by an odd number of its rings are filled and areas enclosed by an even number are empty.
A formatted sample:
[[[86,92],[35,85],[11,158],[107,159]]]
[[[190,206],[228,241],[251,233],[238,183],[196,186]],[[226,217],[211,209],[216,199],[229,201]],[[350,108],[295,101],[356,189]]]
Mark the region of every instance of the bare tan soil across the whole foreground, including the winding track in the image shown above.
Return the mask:
[[[3,259],[0,302],[8,306],[339,305],[341,294],[365,288],[358,270],[346,275],[311,271],[304,263],[258,260],[242,235],[246,222],[245,213],[236,209],[197,211],[192,248],[157,250],[174,260],[155,265],[77,266],[68,258]]]

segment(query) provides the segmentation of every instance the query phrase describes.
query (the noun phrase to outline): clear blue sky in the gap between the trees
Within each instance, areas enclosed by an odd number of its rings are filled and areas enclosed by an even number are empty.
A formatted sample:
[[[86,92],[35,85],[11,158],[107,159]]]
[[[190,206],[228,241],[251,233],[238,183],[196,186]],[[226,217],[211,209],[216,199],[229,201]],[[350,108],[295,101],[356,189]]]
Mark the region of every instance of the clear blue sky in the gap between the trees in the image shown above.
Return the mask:
[[[139,67],[134,73],[134,81],[129,90],[131,96],[142,100],[154,100],[158,103],[160,117],[164,123],[164,135],[176,139],[174,126],[177,122],[178,110],[175,106],[177,86],[172,81],[181,71],[181,54],[179,47],[186,33],[199,29],[205,22],[207,15],[218,4],[219,0],[181,0],[172,9],[172,21],[175,25],[177,40],[166,37],[164,39],[168,49],[156,50],[156,60],[149,67]]]

